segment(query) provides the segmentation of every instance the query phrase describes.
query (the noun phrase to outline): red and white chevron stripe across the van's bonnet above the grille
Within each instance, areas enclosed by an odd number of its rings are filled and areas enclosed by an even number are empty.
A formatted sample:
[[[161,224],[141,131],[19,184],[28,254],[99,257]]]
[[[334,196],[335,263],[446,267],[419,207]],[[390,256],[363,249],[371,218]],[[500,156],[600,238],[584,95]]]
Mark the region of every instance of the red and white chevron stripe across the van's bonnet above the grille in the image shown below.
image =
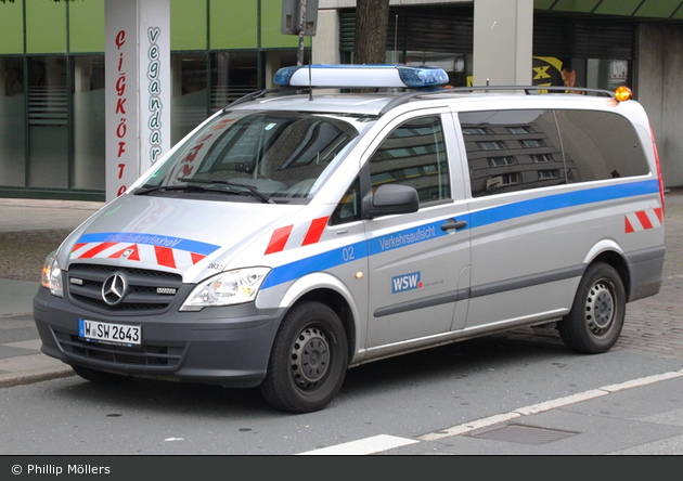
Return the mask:
[[[85,243],[74,246],[72,259],[126,259],[188,270],[206,256],[170,247],[130,243]]]

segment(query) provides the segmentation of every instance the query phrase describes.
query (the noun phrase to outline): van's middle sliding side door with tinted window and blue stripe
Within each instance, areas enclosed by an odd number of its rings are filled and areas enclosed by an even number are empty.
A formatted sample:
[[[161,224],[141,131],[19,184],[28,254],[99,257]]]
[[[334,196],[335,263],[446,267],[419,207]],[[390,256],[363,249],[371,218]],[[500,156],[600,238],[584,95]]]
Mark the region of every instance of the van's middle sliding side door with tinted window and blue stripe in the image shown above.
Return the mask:
[[[581,275],[585,250],[574,253],[587,216],[565,207],[576,168],[563,155],[554,112],[467,112],[459,119],[473,195],[466,328],[563,315]]]

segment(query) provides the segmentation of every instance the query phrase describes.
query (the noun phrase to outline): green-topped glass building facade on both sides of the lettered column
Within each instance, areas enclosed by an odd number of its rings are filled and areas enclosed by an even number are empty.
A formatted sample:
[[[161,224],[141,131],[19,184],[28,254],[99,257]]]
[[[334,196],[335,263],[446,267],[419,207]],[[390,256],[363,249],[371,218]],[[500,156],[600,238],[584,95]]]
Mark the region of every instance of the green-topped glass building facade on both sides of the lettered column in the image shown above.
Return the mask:
[[[0,3],[0,196],[104,200],[104,3]],[[171,143],[297,62],[282,0],[169,3]]]

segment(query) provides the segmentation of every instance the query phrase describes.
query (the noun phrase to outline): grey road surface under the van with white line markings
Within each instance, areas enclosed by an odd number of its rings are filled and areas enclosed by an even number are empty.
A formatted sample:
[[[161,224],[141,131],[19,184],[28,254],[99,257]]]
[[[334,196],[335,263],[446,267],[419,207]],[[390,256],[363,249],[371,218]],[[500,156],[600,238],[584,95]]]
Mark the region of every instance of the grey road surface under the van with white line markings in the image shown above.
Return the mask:
[[[683,454],[683,195],[667,196],[665,282],[617,346],[584,356],[517,329],[350,369],[319,413],[257,390],[78,377],[0,390],[5,455]]]

